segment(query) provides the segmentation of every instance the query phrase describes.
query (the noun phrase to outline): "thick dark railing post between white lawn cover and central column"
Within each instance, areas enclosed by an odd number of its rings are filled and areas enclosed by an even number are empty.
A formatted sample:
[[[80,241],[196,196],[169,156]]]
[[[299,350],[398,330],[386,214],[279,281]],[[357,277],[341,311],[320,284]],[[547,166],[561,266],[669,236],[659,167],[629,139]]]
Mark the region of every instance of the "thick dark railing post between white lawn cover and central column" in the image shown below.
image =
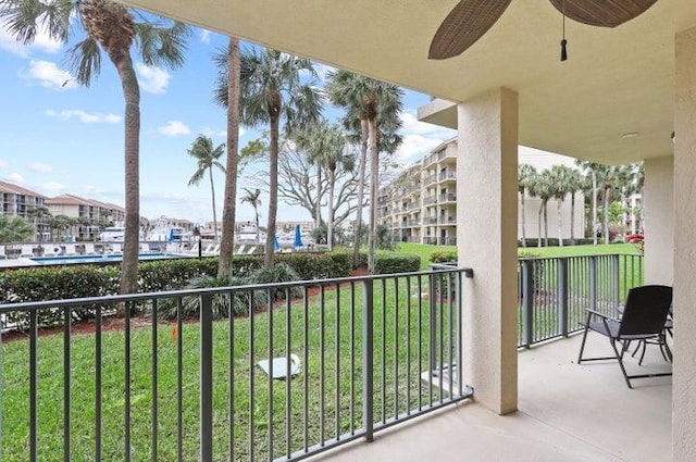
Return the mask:
[[[373,280],[363,282],[362,297],[362,425],[365,428],[365,439],[373,439],[373,388],[374,388],[374,337],[373,311],[374,291]]]

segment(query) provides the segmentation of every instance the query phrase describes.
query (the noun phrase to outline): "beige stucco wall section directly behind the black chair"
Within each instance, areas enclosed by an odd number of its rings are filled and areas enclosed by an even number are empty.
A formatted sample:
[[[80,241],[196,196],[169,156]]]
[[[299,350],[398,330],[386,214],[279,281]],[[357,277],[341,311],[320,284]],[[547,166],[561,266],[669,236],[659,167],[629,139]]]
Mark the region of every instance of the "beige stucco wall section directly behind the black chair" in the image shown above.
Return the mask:
[[[645,280],[674,282],[674,157],[645,161]]]

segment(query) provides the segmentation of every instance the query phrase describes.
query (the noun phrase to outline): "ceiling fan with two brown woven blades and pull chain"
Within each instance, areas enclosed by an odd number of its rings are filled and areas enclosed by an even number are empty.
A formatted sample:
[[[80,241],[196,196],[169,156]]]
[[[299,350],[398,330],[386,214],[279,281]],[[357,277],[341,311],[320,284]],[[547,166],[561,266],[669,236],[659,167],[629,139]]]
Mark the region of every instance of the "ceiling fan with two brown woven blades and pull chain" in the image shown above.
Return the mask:
[[[460,0],[437,28],[427,58],[446,60],[463,53],[488,32],[512,0]],[[657,0],[549,0],[571,20],[596,27],[617,27],[639,16]],[[566,37],[561,41],[566,55]]]

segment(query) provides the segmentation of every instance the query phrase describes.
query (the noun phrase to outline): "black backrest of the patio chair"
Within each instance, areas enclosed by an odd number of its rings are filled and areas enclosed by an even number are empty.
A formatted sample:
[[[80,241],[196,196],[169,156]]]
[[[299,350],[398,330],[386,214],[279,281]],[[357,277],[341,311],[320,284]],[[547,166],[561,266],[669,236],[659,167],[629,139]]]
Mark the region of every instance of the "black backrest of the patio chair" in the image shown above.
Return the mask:
[[[669,286],[641,286],[629,290],[619,336],[659,334],[672,304]]]

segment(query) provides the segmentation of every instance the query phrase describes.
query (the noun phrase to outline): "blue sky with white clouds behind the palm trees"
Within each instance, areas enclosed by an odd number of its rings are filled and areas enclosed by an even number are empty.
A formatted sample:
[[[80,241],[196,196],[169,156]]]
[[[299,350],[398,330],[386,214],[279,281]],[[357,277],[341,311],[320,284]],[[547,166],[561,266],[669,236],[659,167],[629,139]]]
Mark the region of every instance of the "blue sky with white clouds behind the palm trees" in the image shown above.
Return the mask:
[[[215,68],[211,55],[227,38],[194,29],[186,63],[178,70],[146,67],[136,59],[140,83],[140,213],[203,223],[212,220],[210,187],[188,187],[195,171],[187,155],[199,134],[215,145],[226,140],[225,111],[212,102]],[[134,57],[136,53],[134,53]],[[44,36],[35,45],[17,43],[0,25],[0,179],[48,197],[73,193],[123,204],[123,95],[113,65],[104,57],[101,74],[89,88],[71,80],[64,49]],[[323,76],[328,67],[318,63]],[[405,142],[397,161],[418,160],[455,132],[415,120],[418,107],[430,97],[407,90]],[[327,107],[327,116],[339,112]],[[244,127],[240,147],[259,137]],[[216,199],[224,178],[215,174]],[[244,178],[241,186],[245,186]],[[256,185],[246,185],[256,186]],[[268,200],[262,197],[265,208]],[[219,200],[219,220],[221,217]],[[265,213],[262,213],[262,220]],[[248,204],[237,220],[252,220]],[[308,220],[309,213],[281,204],[278,220]]]

